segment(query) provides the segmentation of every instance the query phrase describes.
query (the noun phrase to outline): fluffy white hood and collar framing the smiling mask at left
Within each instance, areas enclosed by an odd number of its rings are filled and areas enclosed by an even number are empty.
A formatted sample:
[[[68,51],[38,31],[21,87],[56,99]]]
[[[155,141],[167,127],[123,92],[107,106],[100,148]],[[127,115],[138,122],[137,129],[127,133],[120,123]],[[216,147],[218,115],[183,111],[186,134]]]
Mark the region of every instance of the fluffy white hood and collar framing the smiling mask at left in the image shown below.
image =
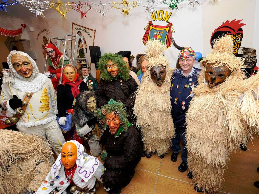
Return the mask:
[[[30,60],[33,70],[32,70],[32,75],[29,78],[25,78],[21,76],[13,68],[11,57],[14,54],[23,55]],[[28,93],[37,92],[42,88],[42,85],[45,84],[48,79],[47,76],[45,76],[42,73],[39,73],[39,68],[36,62],[27,53],[24,53],[22,51],[12,50],[7,57],[7,62],[8,62],[9,68],[11,69],[11,75],[9,74],[9,76],[12,76],[12,78],[14,79],[14,83],[12,83],[11,86],[20,90],[21,92],[28,92]]]

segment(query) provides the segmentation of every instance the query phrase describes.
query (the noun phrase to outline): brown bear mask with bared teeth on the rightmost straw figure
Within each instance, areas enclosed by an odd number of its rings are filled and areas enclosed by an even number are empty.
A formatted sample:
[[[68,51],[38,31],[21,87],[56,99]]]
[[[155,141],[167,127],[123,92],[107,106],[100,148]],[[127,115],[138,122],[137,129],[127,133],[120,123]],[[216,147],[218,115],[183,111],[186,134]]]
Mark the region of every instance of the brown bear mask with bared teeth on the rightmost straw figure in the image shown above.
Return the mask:
[[[231,75],[231,71],[226,65],[213,67],[212,64],[206,64],[205,81],[209,88],[213,88],[225,81],[225,79]]]

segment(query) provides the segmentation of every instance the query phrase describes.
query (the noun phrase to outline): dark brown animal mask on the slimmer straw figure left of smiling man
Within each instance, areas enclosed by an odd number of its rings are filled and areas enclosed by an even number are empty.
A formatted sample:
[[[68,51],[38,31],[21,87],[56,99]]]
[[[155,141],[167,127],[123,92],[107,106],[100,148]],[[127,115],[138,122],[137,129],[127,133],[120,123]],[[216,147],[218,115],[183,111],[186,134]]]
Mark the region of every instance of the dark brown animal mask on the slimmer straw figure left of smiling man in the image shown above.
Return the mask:
[[[166,79],[166,67],[153,66],[150,69],[150,76],[157,86],[161,86]]]

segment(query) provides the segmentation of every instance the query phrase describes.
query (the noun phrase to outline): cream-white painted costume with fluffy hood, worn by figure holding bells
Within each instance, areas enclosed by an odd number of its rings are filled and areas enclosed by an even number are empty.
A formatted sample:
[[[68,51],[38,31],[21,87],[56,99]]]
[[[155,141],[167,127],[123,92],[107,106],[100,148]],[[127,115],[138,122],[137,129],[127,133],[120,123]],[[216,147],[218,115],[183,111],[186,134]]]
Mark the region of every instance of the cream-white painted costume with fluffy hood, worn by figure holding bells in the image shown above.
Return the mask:
[[[18,59],[12,63],[12,57],[24,58],[23,64],[20,64]],[[51,80],[39,73],[35,61],[24,52],[11,51],[7,62],[10,70],[8,73],[6,70],[4,71],[1,105],[12,114],[16,114],[16,108],[22,106],[22,100],[25,96],[32,93],[24,114],[16,123],[17,129],[22,133],[46,137],[58,155],[65,139],[56,121],[56,114],[58,114],[57,95]],[[30,66],[31,70],[27,70],[29,73],[32,71],[31,76],[25,77],[26,74],[19,74],[14,69],[13,64],[19,64],[26,68]]]

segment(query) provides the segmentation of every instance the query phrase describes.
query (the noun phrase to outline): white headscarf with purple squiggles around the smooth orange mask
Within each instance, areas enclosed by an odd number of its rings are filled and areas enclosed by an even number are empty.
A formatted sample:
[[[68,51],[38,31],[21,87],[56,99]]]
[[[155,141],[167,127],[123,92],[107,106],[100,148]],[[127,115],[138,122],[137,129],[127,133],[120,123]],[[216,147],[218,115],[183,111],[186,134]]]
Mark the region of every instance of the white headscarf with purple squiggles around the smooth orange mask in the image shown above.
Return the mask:
[[[90,156],[87,153],[84,153],[84,147],[76,140],[66,141],[72,142],[77,147],[77,173],[85,182],[87,182],[97,170],[100,162],[94,156]],[[64,145],[64,144],[63,144]],[[63,147],[63,146],[62,146]],[[62,148],[61,148],[62,149]],[[50,175],[51,177],[56,177],[59,175],[60,168],[63,166],[61,163],[61,153],[57,157],[54,165],[51,168]]]

